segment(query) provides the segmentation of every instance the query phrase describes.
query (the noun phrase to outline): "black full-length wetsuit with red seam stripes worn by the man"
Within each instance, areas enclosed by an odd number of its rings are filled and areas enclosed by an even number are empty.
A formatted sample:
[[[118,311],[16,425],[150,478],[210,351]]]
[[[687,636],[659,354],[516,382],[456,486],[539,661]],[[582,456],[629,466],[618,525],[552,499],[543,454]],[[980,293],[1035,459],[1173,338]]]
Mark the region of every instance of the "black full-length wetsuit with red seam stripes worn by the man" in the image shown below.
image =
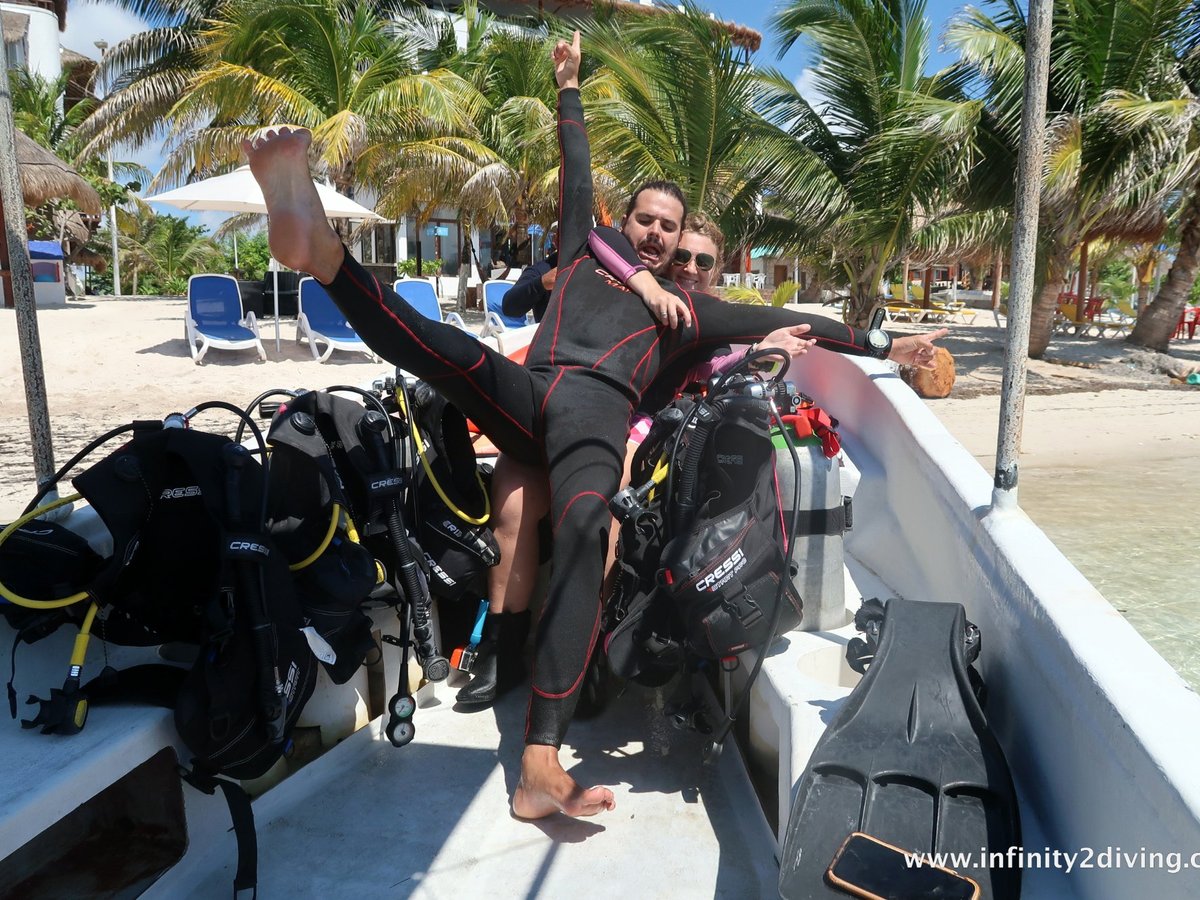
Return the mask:
[[[826,347],[865,355],[863,331],[706,294],[678,292],[691,307],[690,328],[656,323],[641,299],[588,254],[592,161],[577,90],[560,91],[558,118],[558,282],[524,366],[425,318],[349,254],[329,286],[372,349],[437,388],[502,452],[548,473],[553,571],[538,626],[526,743],[554,746],[575,712],[600,628],[608,498],[619,487],[629,416],[660,368],[798,324],[810,324]]]

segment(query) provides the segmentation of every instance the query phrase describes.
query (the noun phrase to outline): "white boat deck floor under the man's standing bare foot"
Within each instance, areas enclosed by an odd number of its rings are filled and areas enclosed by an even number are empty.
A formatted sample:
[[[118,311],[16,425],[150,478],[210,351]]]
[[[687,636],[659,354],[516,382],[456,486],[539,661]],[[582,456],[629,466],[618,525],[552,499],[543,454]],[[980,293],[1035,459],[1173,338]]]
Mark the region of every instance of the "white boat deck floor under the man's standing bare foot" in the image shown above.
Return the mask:
[[[438,689],[416,739],[395,749],[373,721],[254,802],[259,886],[269,896],[770,896],[774,838],[736,750],[713,766],[702,740],[630,690],[571,726],[563,762],[605,784],[617,809],[524,822],[508,811],[527,696],[455,712]],[[499,736],[499,737],[498,737]],[[497,746],[497,740],[499,745]],[[220,896],[233,842],[193,853],[146,896]]]

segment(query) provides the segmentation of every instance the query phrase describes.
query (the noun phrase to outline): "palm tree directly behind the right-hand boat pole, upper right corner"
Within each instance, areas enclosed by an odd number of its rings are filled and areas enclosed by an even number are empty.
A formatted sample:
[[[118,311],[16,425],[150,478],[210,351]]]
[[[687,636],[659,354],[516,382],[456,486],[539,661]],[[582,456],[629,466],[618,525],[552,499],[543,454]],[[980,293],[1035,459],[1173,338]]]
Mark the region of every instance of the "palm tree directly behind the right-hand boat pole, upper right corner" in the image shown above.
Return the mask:
[[[1070,0],[1055,6],[1048,157],[1039,223],[1039,289],[1030,355],[1050,341],[1074,250],[1097,238],[1157,236],[1164,204],[1186,180],[1190,118],[1175,48],[1190,0]],[[1002,0],[995,19],[968,10],[948,43],[982,80],[997,134],[1020,131],[1025,13]]]

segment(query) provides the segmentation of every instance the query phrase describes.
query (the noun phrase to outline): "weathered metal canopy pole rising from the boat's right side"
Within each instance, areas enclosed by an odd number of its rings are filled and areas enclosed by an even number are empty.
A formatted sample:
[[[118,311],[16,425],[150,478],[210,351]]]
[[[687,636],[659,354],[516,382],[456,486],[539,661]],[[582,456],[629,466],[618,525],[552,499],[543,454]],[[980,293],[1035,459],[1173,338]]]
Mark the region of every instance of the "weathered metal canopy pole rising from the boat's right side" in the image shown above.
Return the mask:
[[[1009,265],[1012,288],[1008,293],[1004,380],[1000,394],[996,478],[991,493],[994,509],[1012,509],[1016,505],[1016,456],[1025,414],[1025,376],[1030,355],[1030,316],[1033,311],[1033,281],[1037,265],[1052,19],[1052,0],[1030,0],[1025,32],[1021,146],[1016,164],[1016,205],[1013,210],[1013,251]]]

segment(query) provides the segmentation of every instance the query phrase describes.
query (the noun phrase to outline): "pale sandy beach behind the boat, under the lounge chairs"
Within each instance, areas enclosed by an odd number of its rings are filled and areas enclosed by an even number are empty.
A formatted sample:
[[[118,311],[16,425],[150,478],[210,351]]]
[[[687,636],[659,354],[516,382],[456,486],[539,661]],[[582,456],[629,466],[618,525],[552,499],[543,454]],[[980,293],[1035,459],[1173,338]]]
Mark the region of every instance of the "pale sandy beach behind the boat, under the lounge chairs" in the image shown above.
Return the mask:
[[[822,311],[820,307],[806,307]],[[210,352],[192,362],[184,341],[182,299],[71,301],[38,310],[42,360],[56,464],[88,440],[134,418],[158,419],[205,400],[248,403],[271,388],[361,384],[388,370],[366,355],[335,353],[317,364],[295,341],[294,320],[262,323],[268,359],[252,350]],[[823,312],[823,311],[822,311]],[[928,401],[949,431],[991,470],[1000,406],[1003,331],[990,313],[952,325],[943,341],[958,382],[946,400]],[[898,325],[895,330],[919,326]],[[1200,366],[1200,340],[1177,344],[1184,366]],[[16,314],[0,310],[0,522],[16,517],[34,493],[29,426]],[[1098,467],[1147,457],[1195,454],[1200,388],[1156,373],[1156,354],[1118,340],[1056,338],[1046,360],[1030,365],[1022,467]],[[221,430],[232,416],[206,414]]]

